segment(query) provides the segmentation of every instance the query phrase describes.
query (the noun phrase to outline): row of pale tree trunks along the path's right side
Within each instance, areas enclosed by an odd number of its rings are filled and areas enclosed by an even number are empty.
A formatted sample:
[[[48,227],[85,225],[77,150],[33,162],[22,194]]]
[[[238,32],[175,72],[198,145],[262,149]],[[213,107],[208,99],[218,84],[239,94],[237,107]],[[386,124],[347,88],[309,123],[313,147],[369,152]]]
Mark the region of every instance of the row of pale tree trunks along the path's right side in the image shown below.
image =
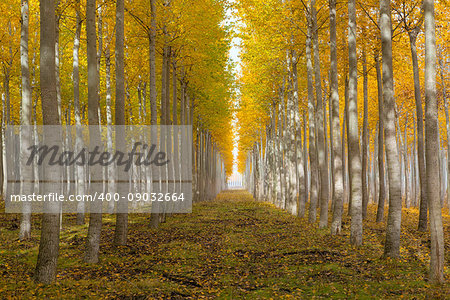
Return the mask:
[[[292,108],[299,109],[293,105],[291,76],[292,65],[289,55],[287,56],[287,73],[282,74],[282,83],[274,88],[278,91],[278,99],[273,101],[271,121],[266,130],[260,132],[257,142],[248,153],[246,165],[246,183],[254,192],[255,197],[258,190],[265,190],[269,195],[268,201],[275,203],[278,207],[292,212],[291,199],[294,190],[290,184],[293,182],[292,151],[302,151],[304,154],[304,189],[298,185],[297,196],[303,199],[299,193],[304,192],[304,199],[309,197],[309,221],[315,223],[317,219],[318,200],[320,200],[320,222],[319,227],[327,226],[328,200],[330,180],[328,168],[332,171],[331,197],[333,220],[331,224],[332,234],[341,231],[343,203],[349,202],[349,215],[351,215],[350,242],[361,245],[363,241],[363,218],[367,217],[367,206],[369,200],[378,203],[376,221],[384,219],[385,202],[388,202],[388,216],[386,224],[386,241],[384,255],[397,259],[400,255],[400,231],[402,199],[405,199],[405,207],[420,205],[419,230],[427,229],[427,205],[430,206],[430,229],[432,233],[432,259],[430,277],[433,281],[443,281],[443,228],[441,208],[444,206],[444,194],[450,194],[450,157],[446,160],[444,151],[440,148],[440,135],[437,119],[436,101],[436,45],[434,36],[434,1],[424,1],[425,11],[425,36],[426,36],[426,129],[423,133],[423,112],[420,99],[420,82],[418,72],[417,50],[415,46],[417,34],[420,31],[422,21],[416,27],[406,28],[410,36],[411,53],[413,60],[413,72],[415,81],[415,98],[417,116],[413,119],[413,147],[410,149],[410,134],[408,129],[408,115],[405,117],[404,128],[401,129],[399,116],[394,99],[394,74],[392,63],[392,23],[391,23],[391,1],[380,0],[380,50],[374,51],[374,65],[376,69],[376,80],[378,87],[379,122],[375,131],[374,151],[369,151],[368,131],[368,62],[365,49],[362,53],[363,69],[363,92],[364,92],[364,119],[362,137],[358,129],[357,112],[357,47],[356,47],[356,1],[348,1],[349,23],[348,23],[348,51],[349,51],[349,80],[345,82],[345,110],[342,136],[340,135],[339,117],[339,95],[336,57],[336,1],[329,1],[330,8],[330,157],[332,165],[328,166],[327,141],[324,136],[327,124],[325,121],[325,104],[322,101],[322,86],[320,81],[320,60],[317,38],[317,20],[315,1],[311,0],[305,7],[307,18],[305,62],[306,83],[308,100],[308,122],[306,116],[302,124],[305,130],[304,148],[300,150],[294,145],[301,144],[301,135],[297,135],[297,143],[292,141],[293,132],[300,132],[300,123],[293,122]],[[405,16],[406,18],[407,16]],[[406,21],[404,26],[408,27]],[[313,53],[312,53],[313,52]],[[441,69],[443,62],[439,61]],[[441,70],[441,81],[445,85],[443,71]],[[286,86],[287,78],[287,86]],[[315,84],[315,86],[314,86]],[[326,82],[324,82],[326,87]],[[314,95],[315,91],[315,95]],[[447,124],[447,140],[450,140],[450,117],[446,99],[445,86],[443,87],[444,106]],[[325,98],[326,96],[324,96]],[[297,126],[292,129],[292,126]],[[307,138],[307,128],[309,128]],[[287,136],[286,136],[287,135]],[[345,137],[347,136],[347,137]],[[424,136],[426,143],[424,143]],[[268,139],[265,143],[263,139]],[[261,141],[259,141],[259,139]],[[346,155],[347,140],[348,152]],[[362,141],[360,145],[360,140]],[[307,147],[307,141],[309,147]],[[341,143],[340,143],[341,142]],[[426,159],[424,146],[426,145]],[[360,155],[362,147],[362,156]],[[447,145],[450,149],[450,142]],[[294,150],[295,149],[295,150]],[[306,153],[309,150],[309,160]],[[447,155],[450,150],[447,150]],[[262,155],[264,153],[264,155]],[[401,155],[403,154],[403,155]],[[261,157],[268,157],[261,159]],[[342,158],[342,159],[341,159]],[[348,158],[346,161],[345,159]],[[308,168],[308,162],[310,168]],[[386,163],[385,163],[386,162]],[[298,163],[298,162],[297,162]],[[447,166],[448,165],[448,166]],[[297,167],[297,171],[298,168]],[[429,170],[430,167],[432,170]],[[265,172],[264,170],[270,170]],[[286,175],[287,170],[287,175]],[[348,171],[347,171],[348,170]],[[257,178],[264,174],[265,181],[261,187],[261,181]],[[387,176],[385,174],[387,173]],[[426,176],[425,176],[426,174]],[[300,176],[297,173],[297,176]],[[286,182],[287,180],[287,182]],[[432,182],[431,182],[432,181]],[[418,201],[420,198],[420,203]],[[447,199],[450,197],[447,197]],[[258,199],[259,200],[259,199]],[[301,201],[301,200],[300,200]],[[304,216],[303,204],[298,202],[299,217]]]

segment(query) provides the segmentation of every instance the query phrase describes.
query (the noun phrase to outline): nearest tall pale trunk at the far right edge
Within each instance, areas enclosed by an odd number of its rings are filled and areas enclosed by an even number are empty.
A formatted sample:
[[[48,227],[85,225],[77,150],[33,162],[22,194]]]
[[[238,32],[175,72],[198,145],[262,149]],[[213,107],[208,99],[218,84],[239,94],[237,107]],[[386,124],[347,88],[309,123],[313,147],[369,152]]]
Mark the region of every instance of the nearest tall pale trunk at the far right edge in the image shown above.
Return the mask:
[[[436,36],[434,1],[424,0],[425,12],[425,139],[427,195],[430,205],[431,259],[430,280],[444,283],[444,231],[439,203],[438,106],[436,97]]]

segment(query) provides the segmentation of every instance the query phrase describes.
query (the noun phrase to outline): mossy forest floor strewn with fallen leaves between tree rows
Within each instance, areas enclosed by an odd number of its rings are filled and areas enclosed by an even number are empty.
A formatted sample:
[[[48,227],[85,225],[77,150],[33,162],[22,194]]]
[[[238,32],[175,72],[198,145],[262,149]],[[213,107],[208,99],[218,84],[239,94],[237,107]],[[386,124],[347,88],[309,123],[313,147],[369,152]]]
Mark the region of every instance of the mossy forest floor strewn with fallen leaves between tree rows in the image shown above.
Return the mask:
[[[114,217],[105,215],[96,265],[82,262],[87,225],[64,215],[57,282],[43,286],[32,281],[39,216],[32,239],[21,242],[19,216],[0,214],[0,298],[445,299],[450,284],[427,281],[429,234],[416,230],[417,215],[403,211],[401,259],[394,261],[382,258],[385,224],[374,222],[375,206],[364,223],[364,245],[354,248],[347,216],[343,234],[331,236],[247,192],[228,191],[156,230],[148,215],[130,216],[124,247],[111,245]],[[448,279],[449,215],[444,232]]]

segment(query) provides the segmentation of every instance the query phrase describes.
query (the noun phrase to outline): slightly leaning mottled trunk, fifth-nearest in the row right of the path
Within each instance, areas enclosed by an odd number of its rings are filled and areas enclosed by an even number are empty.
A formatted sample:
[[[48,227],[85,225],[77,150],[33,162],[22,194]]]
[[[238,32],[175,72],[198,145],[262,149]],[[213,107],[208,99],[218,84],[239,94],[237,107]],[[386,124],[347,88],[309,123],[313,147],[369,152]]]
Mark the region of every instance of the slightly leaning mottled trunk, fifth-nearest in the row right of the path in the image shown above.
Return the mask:
[[[312,34],[314,50],[314,73],[316,85],[316,126],[317,126],[317,154],[320,175],[320,221],[319,228],[325,228],[328,224],[328,165],[325,156],[325,133],[323,128],[324,107],[322,101],[322,79],[320,76],[319,32],[317,27],[316,1],[311,0]]]

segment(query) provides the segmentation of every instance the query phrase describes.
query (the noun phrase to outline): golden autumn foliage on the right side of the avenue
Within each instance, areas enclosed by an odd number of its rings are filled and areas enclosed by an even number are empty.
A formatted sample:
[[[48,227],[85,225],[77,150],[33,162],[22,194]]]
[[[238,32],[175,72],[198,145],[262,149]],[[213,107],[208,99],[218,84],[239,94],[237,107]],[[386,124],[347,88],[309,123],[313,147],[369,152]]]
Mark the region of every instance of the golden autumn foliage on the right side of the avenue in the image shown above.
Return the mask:
[[[237,15],[242,20],[240,37],[242,38],[242,76],[239,78],[241,87],[240,110],[238,113],[240,126],[240,166],[241,169],[251,149],[259,137],[264,137],[263,128],[269,121],[271,108],[276,107],[279,89],[283,87],[286,49],[295,49],[299,53],[299,110],[307,114],[306,99],[306,11],[308,1],[236,1]],[[415,118],[414,81],[411,61],[411,51],[408,33],[404,28],[403,16],[410,26],[417,24],[421,18],[421,1],[392,1],[393,23],[393,61],[395,78],[395,99],[399,131],[407,129],[407,142],[413,141],[413,118]],[[378,124],[378,96],[375,72],[375,55],[381,51],[380,33],[378,27],[379,1],[369,0],[357,4],[357,54],[358,54],[358,112],[359,128],[363,123],[363,65],[362,55],[366,53],[368,69],[368,132],[370,147],[373,150]],[[329,95],[329,11],[328,1],[317,0],[318,35],[321,62],[321,77],[326,99]],[[450,7],[448,1],[436,2],[436,38],[438,58],[444,59],[448,66],[450,45],[450,21],[446,13]],[[344,86],[348,74],[347,50],[347,5],[337,3],[337,51],[341,124],[344,111]],[[423,27],[423,26],[422,26]],[[420,78],[422,83],[422,99],[424,99],[424,36],[421,30],[417,40]],[[448,67],[444,70],[445,82],[441,83],[438,74],[439,120],[441,122],[441,142],[446,143],[445,114],[443,103],[443,84],[450,86]],[[448,92],[447,92],[448,93]],[[326,113],[328,114],[328,105]],[[253,107],[255,109],[250,109]],[[262,124],[264,123],[264,124]]]

